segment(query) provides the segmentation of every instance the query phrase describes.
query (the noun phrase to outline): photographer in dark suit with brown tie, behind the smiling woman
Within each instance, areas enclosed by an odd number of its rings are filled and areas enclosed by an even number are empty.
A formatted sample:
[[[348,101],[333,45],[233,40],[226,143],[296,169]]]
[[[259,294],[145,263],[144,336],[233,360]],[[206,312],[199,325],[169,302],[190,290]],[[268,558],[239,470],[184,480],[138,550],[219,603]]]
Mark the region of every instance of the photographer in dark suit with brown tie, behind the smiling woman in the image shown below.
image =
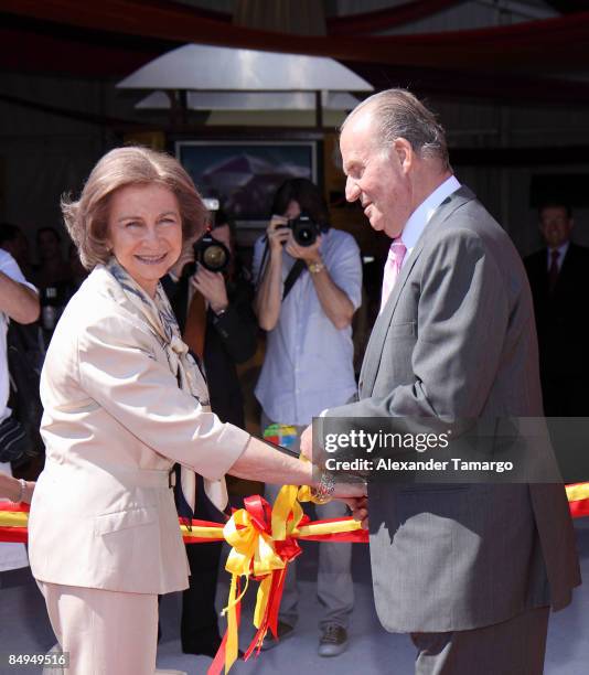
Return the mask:
[[[221,211],[215,215],[205,237],[185,243],[178,262],[162,279],[162,286],[184,341],[204,367],[212,410],[222,421],[244,428],[244,403],[236,364],[244,363],[256,351],[258,328],[251,312],[254,291],[234,255],[227,217]],[[223,265],[224,261],[227,264]],[[222,271],[206,269],[205,265],[213,269],[221,267]],[[223,516],[206,497],[202,481],[196,479],[194,517],[222,522]],[[176,488],[179,514],[189,516],[181,492]],[[181,622],[182,651],[186,654],[214,656],[221,644],[215,612],[221,547],[219,542],[186,546],[191,576],[190,588],[183,591]]]

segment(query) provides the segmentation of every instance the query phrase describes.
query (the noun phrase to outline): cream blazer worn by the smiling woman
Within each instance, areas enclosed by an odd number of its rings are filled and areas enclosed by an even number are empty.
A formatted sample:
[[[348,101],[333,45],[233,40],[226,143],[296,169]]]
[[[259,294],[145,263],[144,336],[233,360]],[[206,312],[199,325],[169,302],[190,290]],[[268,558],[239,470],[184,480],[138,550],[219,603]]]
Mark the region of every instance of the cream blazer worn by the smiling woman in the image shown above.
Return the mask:
[[[186,588],[169,471],[180,462],[223,479],[249,436],[178,387],[161,339],[101,266],[55,329],[41,398],[33,576],[138,593]]]

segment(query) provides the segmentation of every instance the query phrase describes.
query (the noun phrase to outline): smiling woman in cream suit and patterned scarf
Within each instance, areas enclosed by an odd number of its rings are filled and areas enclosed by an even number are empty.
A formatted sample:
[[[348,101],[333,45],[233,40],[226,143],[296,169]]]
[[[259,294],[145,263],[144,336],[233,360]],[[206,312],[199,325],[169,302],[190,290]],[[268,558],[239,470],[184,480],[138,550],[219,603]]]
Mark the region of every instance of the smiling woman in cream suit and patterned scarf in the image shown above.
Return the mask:
[[[205,216],[182,167],[142,148],[113,150],[63,212],[93,271],[62,315],[41,378],[46,464],[31,506],[31,568],[71,675],[148,675],[158,593],[188,587],[174,462],[203,475],[218,507],[227,472],[312,485],[311,467],[210,410],[159,285]],[[189,501],[192,471],[182,480]]]

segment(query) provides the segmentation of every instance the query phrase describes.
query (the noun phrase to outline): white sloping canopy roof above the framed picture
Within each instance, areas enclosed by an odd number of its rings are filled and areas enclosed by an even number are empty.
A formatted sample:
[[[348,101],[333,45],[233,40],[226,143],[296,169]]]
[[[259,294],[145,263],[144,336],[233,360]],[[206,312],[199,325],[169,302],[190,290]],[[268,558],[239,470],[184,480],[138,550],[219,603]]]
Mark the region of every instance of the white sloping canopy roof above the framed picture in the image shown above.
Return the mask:
[[[372,92],[333,58],[186,44],[142,66],[117,87],[205,92]]]

